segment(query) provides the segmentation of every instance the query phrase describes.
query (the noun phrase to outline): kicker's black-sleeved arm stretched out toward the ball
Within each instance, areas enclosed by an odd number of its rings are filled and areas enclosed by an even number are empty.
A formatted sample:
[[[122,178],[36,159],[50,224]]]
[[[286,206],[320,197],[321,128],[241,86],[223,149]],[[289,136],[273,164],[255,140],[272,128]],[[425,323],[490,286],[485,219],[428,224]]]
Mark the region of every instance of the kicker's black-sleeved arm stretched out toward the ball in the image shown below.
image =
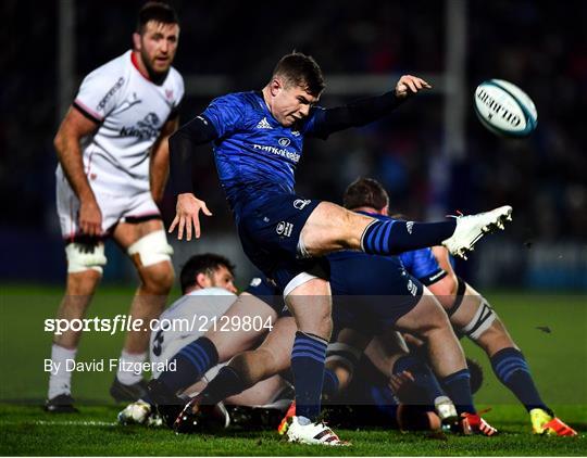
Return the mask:
[[[403,75],[392,91],[357,100],[344,106],[323,110],[316,115],[315,125],[308,133],[313,137],[326,138],[333,132],[349,127],[364,126],[387,116],[409,97],[429,88],[430,85],[424,79]]]

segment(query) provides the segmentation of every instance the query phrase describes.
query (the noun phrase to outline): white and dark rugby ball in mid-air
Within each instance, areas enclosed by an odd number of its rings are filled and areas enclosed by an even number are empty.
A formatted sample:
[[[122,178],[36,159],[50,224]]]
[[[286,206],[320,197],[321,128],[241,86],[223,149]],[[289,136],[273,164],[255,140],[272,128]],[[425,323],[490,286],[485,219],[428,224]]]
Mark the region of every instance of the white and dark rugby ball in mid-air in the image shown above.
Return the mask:
[[[503,79],[489,79],[477,86],[475,113],[487,129],[503,137],[527,137],[538,124],[538,113],[528,94]]]

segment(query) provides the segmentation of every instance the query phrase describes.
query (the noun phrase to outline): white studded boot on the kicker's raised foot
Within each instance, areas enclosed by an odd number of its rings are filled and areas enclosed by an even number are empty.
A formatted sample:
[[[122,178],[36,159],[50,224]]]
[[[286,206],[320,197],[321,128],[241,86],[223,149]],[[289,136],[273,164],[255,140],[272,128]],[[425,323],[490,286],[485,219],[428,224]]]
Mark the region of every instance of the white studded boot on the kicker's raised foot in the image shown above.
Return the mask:
[[[476,215],[452,216],[457,219],[457,228],[452,236],[442,242],[442,245],[451,254],[466,259],[466,253],[474,250],[473,245],[483,236],[496,229],[504,229],[505,221],[512,220],[512,212],[510,205],[504,205]]]

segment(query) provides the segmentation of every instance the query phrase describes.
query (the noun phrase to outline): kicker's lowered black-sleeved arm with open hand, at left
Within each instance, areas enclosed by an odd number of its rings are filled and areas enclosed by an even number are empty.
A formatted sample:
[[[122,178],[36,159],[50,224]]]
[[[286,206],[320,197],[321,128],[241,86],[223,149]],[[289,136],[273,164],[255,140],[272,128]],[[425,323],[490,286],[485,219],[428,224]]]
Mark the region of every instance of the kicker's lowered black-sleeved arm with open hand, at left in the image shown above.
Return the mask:
[[[200,212],[207,216],[212,213],[205,202],[197,199],[192,192],[191,157],[217,137],[214,127],[202,116],[198,116],[182,126],[170,137],[171,186],[177,194],[176,214],[170,226],[170,233],[177,228],[177,239],[186,240],[191,236],[200,238]]]

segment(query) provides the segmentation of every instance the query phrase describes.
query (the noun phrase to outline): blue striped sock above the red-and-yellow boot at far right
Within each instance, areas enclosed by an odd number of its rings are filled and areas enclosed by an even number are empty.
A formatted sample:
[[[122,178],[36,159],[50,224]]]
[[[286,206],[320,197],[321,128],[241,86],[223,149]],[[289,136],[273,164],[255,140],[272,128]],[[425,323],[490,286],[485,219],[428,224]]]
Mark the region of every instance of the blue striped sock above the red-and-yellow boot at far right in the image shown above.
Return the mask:
[[[491,356],[491,367],[500,382],[510,389],[527,411],[539,408],[552,415],[540,398],[522,352],[513,347],[500,349]]]

